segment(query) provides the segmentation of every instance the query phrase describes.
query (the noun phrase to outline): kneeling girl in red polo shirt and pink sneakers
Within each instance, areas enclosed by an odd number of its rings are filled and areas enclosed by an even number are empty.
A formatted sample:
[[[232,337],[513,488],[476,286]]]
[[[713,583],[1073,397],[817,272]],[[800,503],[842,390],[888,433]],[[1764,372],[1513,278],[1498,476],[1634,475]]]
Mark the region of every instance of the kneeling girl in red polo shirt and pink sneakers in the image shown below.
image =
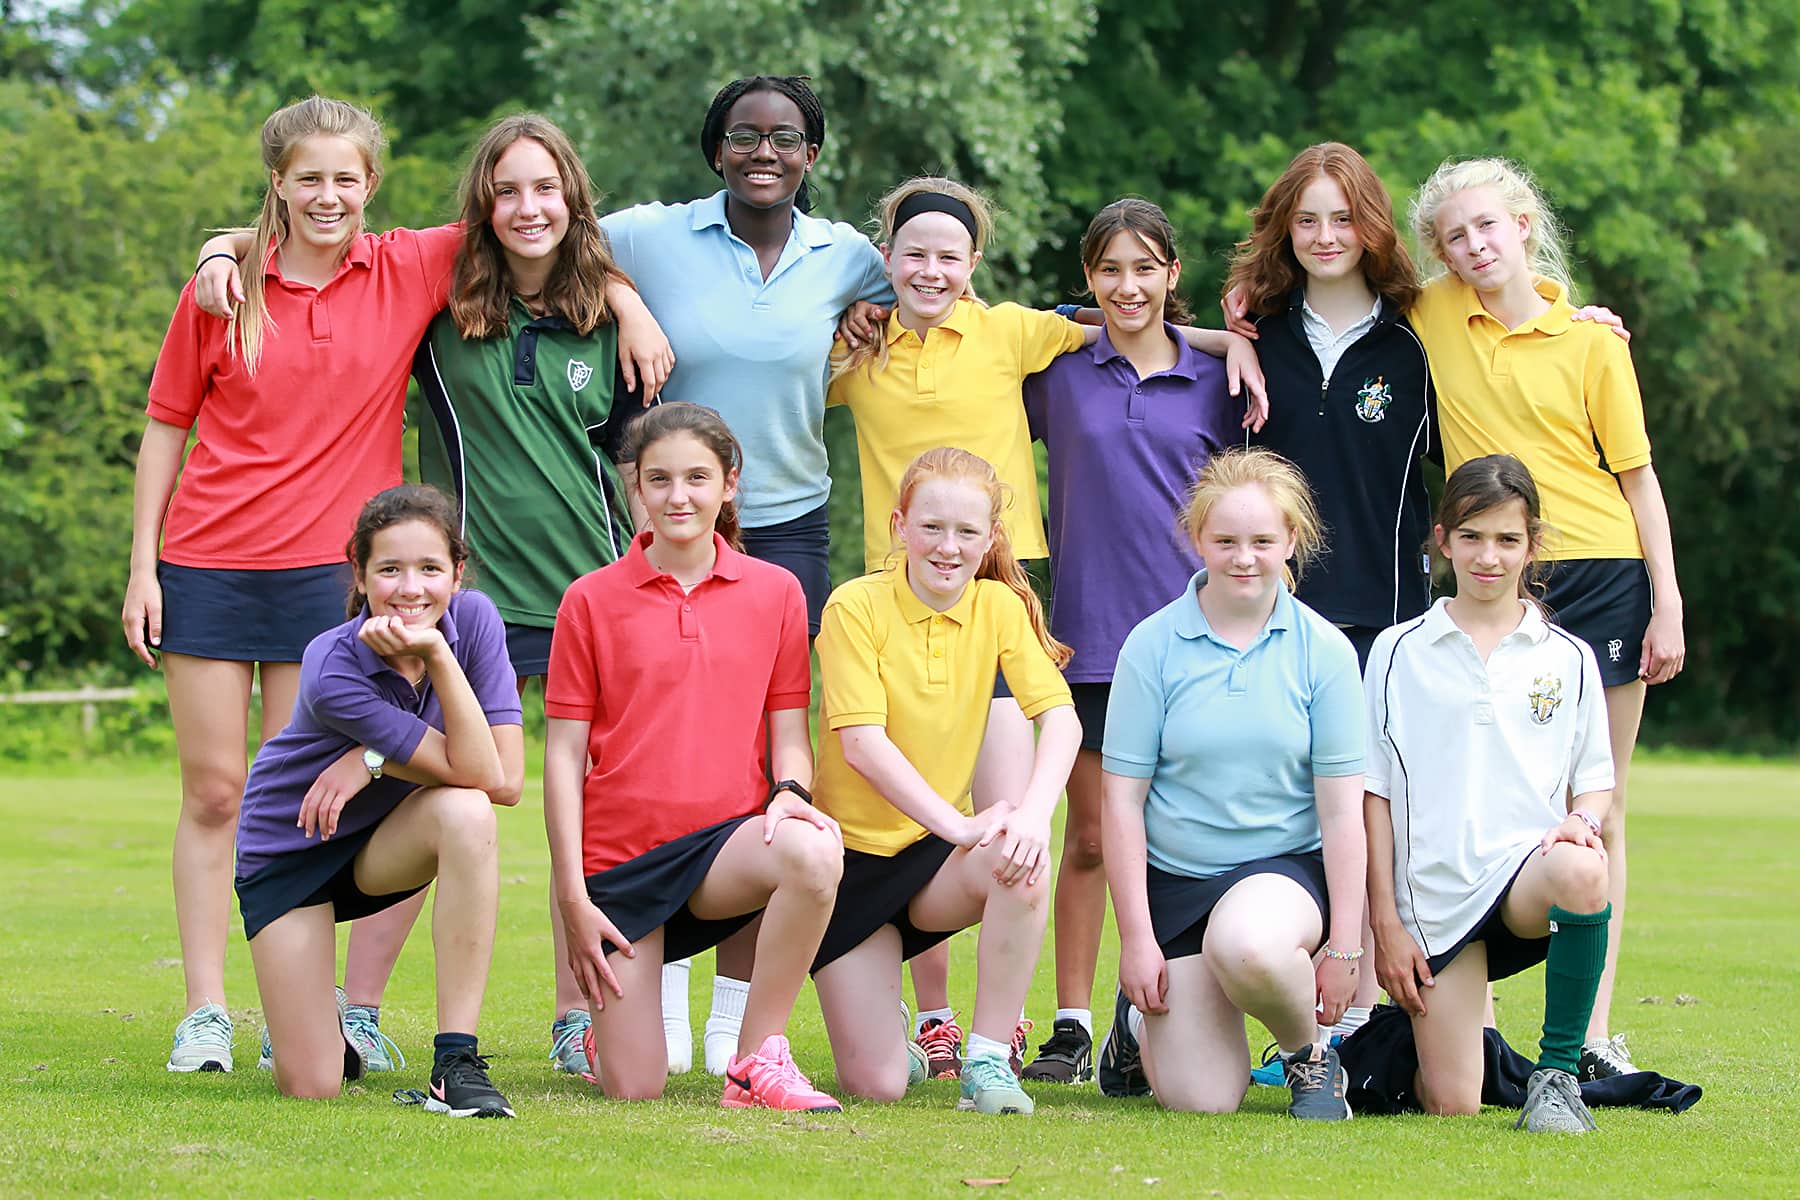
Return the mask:
[[[805,597],[736,547],[743,452],[716,412],[662,405],[632,441],[650,527],[569,587],[544,693],[544,815],[589,1060],[608,1096],[661,1096],[662,963],[760,912],[720,1103],[835,1112],[785,1036],[844,865],[806,792]]]

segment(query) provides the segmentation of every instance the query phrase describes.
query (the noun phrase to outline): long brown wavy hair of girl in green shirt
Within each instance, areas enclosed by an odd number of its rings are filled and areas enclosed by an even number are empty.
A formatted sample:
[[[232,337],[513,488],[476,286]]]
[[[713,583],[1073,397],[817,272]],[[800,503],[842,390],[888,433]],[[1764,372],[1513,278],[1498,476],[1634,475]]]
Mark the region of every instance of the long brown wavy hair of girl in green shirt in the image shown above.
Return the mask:
[[[470,157],[457,196],[463,207],[463,246],[450,277],[450,315],[464,338],[497,338],[506,333],[513,302],[513,275],[506,268],[506,250],[493,232],[493,167],[513,142],[531,139],[556,162],[569,230],[556,248],[556,264],[544,281],[544,306],[578,333],[612,320],[607,309],[607,279],[625,279],[612,261],[607,234],[594,210],[594,182],[574,153],[569,135],[538,113],[502,117],[490,126]]]

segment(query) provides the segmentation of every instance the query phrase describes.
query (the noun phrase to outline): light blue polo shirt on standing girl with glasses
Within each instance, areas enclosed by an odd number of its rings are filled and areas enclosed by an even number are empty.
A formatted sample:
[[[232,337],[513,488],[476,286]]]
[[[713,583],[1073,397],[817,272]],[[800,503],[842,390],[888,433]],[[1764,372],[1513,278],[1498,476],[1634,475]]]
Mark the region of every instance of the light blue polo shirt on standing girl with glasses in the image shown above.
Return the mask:
[[[778,525],[824,504],[832,336],[853,300],[893,302],[880,252],[851,225],[796,210],[763,279],[756,252],[725,223],[724,191],[625,209],[601,227],[675,347],[662,398],[716,408],[743,443],[743,525]]]

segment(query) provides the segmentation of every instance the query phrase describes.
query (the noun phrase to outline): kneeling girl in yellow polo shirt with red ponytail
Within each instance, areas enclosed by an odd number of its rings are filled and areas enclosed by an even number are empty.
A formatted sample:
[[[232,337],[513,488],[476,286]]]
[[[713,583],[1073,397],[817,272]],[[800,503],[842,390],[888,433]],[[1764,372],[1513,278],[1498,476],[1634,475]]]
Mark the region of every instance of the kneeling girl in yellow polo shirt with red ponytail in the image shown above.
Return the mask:
[[[891,522],[887,570],[826,601],[819,806],[844,835],[844,878],[814,961],[839,1085],[898,1099],[925,1070],[896,1020],[900,963],[981,925],[959,1108],[1031,1112],[1008,1063],[1049,916],[1049,822],[1082,727],[1044,608],[1001,520],[983,459],[920,455]],[[1028,770],[983,813],[970,784],[995,671],[1039,725]]]

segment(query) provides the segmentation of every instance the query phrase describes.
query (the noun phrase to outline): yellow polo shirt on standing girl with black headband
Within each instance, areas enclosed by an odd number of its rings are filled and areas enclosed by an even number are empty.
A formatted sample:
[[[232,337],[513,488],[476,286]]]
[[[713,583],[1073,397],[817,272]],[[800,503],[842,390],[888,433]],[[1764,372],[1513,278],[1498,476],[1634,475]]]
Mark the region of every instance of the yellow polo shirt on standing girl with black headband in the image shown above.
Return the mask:
[[[887,318],[887,369],[842,376],[826,396],[826,405],[850,405],[857,416],[866,570],[880,570],[893,549],[887,516],[900,475],[938,446],[986,459],[1012,488],[1001,520],[1013,554],[1049,558],[1019,389],[1057,354],[1080,347],[1078,324],[1019,304],[988,308],[965,297],[923,338],[898,317]]]

